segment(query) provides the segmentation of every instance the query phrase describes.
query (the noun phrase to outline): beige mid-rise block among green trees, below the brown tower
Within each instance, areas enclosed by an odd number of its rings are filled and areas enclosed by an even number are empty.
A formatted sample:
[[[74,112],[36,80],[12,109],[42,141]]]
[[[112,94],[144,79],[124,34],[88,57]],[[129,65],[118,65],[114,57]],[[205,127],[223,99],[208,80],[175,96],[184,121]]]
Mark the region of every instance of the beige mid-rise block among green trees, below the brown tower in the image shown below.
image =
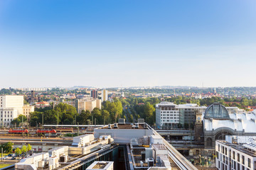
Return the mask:
[[[101,109],[101,101],[96,98],[95,100],[85,100],[85,99],[77,99],[75,100],[75,108],[78,113],[82,111],[92,111],[94,108]]]

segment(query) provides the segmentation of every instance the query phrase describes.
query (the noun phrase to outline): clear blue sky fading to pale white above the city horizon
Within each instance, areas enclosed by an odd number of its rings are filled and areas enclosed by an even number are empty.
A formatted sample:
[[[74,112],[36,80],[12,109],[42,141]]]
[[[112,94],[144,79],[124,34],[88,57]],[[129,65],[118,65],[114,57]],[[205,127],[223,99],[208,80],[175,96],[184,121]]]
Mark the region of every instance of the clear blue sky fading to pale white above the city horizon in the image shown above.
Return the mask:
[[[255,0],[1,0],[0,88],[256,86]]]

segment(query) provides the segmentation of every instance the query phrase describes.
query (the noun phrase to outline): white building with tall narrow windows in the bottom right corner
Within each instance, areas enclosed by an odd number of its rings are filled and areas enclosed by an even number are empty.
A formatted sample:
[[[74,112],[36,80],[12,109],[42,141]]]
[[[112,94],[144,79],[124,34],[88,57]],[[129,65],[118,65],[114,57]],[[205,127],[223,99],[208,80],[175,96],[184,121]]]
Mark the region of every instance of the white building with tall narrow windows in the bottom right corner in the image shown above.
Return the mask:
[[[256,137],[226,136],[215,143],[215,166],[221,170],[256,169]]]

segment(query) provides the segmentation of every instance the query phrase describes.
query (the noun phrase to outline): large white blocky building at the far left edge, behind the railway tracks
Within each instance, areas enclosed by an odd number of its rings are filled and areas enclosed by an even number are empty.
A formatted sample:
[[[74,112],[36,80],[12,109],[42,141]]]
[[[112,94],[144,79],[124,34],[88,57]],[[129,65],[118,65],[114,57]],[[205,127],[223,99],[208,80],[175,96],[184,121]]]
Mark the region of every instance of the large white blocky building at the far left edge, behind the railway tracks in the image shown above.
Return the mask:
[[[1,126],[11,125],[11,121],[23,114],[23,96],[1,95],[0,96]]]

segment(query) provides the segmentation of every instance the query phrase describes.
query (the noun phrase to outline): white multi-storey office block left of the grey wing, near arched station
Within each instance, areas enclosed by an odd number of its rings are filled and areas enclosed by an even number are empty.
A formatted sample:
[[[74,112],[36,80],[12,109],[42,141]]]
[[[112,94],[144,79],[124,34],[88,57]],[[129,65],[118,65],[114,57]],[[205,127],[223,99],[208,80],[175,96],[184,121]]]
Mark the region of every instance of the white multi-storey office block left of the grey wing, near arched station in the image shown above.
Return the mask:
[[[156,127],[159,129],[177,128],[179,111],[177,105],[171,102],[156,104]]]

